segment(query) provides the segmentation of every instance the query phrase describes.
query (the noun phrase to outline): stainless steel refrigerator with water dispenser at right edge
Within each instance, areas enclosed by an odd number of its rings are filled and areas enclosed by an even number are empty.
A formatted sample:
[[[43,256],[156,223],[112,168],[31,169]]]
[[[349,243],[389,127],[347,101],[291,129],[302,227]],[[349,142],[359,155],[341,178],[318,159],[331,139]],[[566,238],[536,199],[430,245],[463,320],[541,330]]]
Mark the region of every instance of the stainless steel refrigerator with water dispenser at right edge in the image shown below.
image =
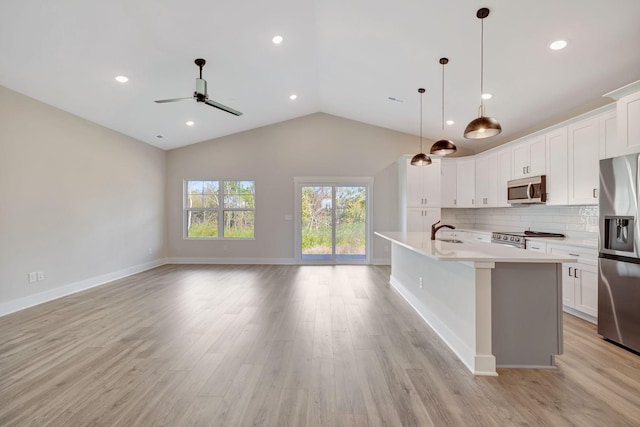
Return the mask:
[[[600,160],[598,333],[640,352],[640,155]]]

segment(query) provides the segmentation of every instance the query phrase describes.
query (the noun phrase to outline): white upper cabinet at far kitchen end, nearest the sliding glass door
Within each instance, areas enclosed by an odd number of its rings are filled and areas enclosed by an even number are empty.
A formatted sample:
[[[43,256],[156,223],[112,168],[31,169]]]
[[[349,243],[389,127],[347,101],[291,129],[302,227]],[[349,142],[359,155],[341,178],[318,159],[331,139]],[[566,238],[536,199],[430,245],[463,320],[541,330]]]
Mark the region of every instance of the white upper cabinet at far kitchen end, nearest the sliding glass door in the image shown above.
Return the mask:
[[[427,166],[412,166],[405,159],[407,207],[440,206],[440,160]],[[402,177],[402,173],[401,173]]]

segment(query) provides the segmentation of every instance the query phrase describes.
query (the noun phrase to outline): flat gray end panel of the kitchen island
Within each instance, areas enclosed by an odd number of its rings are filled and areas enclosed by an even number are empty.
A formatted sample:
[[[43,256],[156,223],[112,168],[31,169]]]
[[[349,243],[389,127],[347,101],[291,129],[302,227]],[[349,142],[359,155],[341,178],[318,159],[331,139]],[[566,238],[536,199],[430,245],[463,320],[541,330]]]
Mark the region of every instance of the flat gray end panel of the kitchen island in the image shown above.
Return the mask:
[[[555,366],[562,353],[562,264],[496,263],[492,273],[497,366]]]

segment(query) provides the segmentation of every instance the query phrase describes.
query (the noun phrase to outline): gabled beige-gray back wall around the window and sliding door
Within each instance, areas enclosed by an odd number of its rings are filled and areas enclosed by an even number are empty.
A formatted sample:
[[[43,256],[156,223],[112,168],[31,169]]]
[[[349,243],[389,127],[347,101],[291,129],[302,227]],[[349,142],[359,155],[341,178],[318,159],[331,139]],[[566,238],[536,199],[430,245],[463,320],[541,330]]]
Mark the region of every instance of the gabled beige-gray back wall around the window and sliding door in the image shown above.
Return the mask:
[[[431,141],[425,140],[425,147]],[[372,176],[373,229],[398,227],[396,160],[415,153],[418,138],[328,114],[317,113],[195,144],[167,155],[167,241],[173,262],[287,263],[295,259],[294,177]],[[254,179],[255,240],[183,239],[185,179]],[[226,249],[225,249],[226,248]],[[388,259],[373,240],[372,260]]]

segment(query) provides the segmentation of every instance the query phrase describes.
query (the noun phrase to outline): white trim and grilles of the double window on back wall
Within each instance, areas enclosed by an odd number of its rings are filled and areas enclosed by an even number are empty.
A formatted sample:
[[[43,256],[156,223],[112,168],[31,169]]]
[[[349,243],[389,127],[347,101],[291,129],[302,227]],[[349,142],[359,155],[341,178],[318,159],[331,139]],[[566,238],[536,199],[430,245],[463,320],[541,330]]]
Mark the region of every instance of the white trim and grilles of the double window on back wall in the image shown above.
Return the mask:
[[[220,203],[222,203],[222,205],[219,205],[219,207],[217,208],[195,208],[195,209],[189,209],[187,207],[187,201],[188,201],[188,189],[187,189],[187,183],[189,181],[218,181],[219,185],[218,185],[218,192],[219,192],[219,198],[220,198]],[[246,209],[246,208],[225,208],[224,207],[224,182],[225,181],[253,181],[253,185],[254,185],[254,191],[257,193],[256,190],[256,180],[253,178],[242,178],[242,179],[231,179],[231,178],[188,178],[188,179],[184,179],[182,182],[182,240],[188,240],[188,241],[219,241],[219,240],[230,240],[230,241],[234,241],[234,242],[238,242],[238,241],[250,241],[250,240],[256,240],[256,223],[255,223],[255,213],[256,213],[256,195],[254,194],[254,200],[253,200],[253,209]],[[188,237],[187,235],[187,210],[194,210],[194,211],[208,211],[208,212],[218,212],[218,237]],[[253,237],[224,237],[224,212],[225,211],[253,211]],[[220,224],[222,224],[222,226],[220,226]],[[220,236],[220,234],[223,234],[222,237]]]

